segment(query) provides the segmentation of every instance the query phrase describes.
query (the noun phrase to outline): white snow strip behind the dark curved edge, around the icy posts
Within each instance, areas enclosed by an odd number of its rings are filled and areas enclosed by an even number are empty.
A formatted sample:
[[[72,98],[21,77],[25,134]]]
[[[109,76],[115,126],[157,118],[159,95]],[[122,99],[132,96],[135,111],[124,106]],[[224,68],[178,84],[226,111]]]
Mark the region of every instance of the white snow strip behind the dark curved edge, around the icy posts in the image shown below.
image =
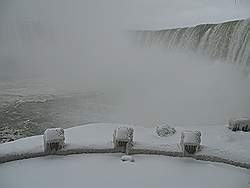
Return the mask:
[[[65,130],[64,150],[85,148],[112,149],[112,134],[119,124],[89,124]],[[250,133],[233,132],[226,126],[175,127],[176,134],[159,137],[155,128],[134,126],[134,149],[181,152],[179,146],[183,130],[201,131],[202,150],[198,154],[217,156],[250,164]],[[0,144],[0,159],[8,155],[43,152],[43,137],[33,136]]]

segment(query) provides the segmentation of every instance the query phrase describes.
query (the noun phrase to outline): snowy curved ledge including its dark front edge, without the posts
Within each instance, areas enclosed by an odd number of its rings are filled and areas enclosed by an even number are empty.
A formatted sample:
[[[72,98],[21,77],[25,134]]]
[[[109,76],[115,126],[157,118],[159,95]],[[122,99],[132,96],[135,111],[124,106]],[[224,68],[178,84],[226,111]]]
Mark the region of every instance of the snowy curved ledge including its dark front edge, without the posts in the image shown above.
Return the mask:
[[[119,124],[89,124],[65,130],[66,145],[56,155],[82,153],[118,153],[112,134]],[[131,154],[152,154],[183,157],[179,146],[183,130],[202,132],[202,150],[190,157],[197,160],[222,162],[250,169],[250,133],[232,132],[224,126],[176,127],[176,134],[159,137],[154,128],[134,127],[135,145]],[[43,157],[42,135],[0,144],[0,163]]]

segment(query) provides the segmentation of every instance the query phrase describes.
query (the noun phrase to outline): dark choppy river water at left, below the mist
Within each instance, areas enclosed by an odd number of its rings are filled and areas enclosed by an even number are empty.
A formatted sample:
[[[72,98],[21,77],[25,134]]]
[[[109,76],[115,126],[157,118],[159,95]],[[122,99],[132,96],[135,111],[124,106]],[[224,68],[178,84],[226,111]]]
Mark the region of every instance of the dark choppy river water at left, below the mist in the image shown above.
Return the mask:
[[[94,91],[56,91],[29,82],[0,87],[0,143],[43,134],[49,127],[106,122],[112,110],[108,99]]]

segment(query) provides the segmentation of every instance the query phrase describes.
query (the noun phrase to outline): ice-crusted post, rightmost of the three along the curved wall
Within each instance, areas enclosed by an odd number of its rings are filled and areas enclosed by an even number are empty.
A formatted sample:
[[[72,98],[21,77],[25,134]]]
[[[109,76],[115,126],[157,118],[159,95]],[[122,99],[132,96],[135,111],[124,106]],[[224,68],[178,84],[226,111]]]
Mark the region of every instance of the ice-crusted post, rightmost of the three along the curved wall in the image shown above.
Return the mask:
[[[201,132],[183,131],[181,133],[181,148],[184,156],[194,154],[200,149]]]

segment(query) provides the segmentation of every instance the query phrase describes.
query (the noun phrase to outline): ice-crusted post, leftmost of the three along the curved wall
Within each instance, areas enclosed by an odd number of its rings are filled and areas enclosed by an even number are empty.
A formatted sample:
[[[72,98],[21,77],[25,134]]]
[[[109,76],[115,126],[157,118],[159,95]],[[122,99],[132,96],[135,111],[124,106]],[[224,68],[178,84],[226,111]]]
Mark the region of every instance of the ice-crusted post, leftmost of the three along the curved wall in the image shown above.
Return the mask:
[[[54,153],[64,147],[64,130],[63,128],[47,129],[43,135],[44,152]]]

